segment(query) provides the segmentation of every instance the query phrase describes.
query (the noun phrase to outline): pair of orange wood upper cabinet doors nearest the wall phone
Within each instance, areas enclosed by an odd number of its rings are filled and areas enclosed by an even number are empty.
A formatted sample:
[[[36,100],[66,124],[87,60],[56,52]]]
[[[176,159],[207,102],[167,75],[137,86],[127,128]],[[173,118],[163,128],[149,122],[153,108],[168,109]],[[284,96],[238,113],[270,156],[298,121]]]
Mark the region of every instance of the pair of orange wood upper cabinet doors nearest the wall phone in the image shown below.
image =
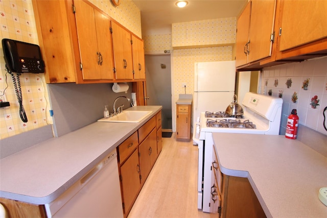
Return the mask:
[[[114,79],[109,18],[84,1],[74,6],[83,79]]]

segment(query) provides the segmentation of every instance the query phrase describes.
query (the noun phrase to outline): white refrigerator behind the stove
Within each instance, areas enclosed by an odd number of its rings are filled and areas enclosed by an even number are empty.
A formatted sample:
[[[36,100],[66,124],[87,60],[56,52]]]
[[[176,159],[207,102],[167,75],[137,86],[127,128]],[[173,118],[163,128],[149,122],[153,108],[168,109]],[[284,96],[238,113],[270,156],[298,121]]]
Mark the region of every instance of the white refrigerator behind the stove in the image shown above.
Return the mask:
[[[193,128],[201,112],[225,111],[235,93],[235,61],[196,62]]]

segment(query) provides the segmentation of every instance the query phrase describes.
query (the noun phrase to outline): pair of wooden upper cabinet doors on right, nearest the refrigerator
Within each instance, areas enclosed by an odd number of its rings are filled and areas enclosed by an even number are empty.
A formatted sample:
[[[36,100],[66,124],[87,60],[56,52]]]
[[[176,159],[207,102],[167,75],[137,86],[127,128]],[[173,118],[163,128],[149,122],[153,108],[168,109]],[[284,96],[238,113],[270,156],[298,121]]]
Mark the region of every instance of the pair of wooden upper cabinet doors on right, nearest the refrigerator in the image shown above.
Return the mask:
[[[271,56],[276,0],[252,0],[237,23],[236,65]]]

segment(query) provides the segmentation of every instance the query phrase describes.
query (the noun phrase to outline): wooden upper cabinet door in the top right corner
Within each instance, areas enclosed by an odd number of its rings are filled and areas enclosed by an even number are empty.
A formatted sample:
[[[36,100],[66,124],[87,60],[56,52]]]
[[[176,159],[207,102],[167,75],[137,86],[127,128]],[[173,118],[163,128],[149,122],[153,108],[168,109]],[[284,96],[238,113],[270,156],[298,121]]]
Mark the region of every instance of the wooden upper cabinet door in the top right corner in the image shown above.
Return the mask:
[[[327,1],[282,1],[279,51],[327,37]]]

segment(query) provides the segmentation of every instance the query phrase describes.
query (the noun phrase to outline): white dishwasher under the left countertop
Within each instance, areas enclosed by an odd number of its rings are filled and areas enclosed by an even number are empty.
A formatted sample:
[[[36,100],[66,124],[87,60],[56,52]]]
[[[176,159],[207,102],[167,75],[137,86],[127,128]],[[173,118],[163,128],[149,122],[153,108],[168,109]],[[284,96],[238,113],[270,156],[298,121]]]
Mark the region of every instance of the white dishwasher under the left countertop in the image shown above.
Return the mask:
[[[61,196],[45,205],[48,217],[124,217],[114,150]]]

